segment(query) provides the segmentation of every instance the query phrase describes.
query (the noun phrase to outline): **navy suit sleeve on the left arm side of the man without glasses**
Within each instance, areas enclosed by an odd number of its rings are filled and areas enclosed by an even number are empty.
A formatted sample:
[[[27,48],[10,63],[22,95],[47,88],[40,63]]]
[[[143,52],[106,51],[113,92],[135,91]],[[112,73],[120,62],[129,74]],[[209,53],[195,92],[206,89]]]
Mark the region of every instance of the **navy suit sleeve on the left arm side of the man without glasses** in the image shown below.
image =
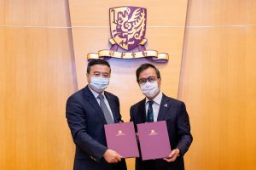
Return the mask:
[[[84,109],[73,97],[67,99],[66,117],[74,143],[89,156],[96,158],[96,161],[100,161],[108,148],[86,133]]]

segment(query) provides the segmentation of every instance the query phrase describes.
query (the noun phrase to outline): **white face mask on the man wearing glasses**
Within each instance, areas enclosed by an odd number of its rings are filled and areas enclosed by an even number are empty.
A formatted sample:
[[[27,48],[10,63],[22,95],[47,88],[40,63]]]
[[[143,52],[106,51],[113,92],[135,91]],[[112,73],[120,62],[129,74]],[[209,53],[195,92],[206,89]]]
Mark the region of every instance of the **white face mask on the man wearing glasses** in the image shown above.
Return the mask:
[[[143,85],[140,85],[140,88],[145,96],[148,98],[154,97],[155,94],[157,94],[160,89],[158,88],[157,81],[155,82],[146,82]]]

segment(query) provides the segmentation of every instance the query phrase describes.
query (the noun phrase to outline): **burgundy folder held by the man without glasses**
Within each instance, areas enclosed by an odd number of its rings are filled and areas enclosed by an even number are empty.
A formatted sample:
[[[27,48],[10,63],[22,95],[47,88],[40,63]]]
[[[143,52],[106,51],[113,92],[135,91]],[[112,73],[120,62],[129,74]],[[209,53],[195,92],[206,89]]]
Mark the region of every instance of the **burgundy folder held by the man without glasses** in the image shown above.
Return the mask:
[[[124,158],[139,156],[133,122],[108,124],[104,127],[108,149],[117,151]]]

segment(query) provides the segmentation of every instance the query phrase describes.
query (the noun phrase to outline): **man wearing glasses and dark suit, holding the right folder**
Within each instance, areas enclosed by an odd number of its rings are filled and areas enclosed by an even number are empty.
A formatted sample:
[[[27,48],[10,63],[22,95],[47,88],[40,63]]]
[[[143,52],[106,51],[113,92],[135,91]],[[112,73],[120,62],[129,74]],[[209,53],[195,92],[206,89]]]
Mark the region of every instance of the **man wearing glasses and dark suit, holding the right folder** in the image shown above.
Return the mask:
[[[172,99],[160,91],[160,71],[151,64],[143,64],[136,71],[137,82],[146,96],[131,106],[131,122],[166,121],[172,153],[169,158],[142,161],[136,159],[136,170],[183,170],[183,156],[192,143],[189,115],[182,101]]]

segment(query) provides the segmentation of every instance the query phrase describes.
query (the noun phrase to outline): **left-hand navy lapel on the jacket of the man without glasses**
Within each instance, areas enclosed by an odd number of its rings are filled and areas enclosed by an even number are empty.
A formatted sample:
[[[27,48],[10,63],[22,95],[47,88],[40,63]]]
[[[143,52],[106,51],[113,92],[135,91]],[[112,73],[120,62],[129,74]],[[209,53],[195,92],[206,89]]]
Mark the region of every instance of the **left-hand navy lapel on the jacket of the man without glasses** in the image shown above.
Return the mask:
[[[97,100],[95,99],[94,95],[90,92],[90,89],[88,88],[88,86],[86,86],[84,88],[84,95],[87,99],[87,101],[90,103],[90,105],[92,106],[92,108],[94,108],[96,110],[96,113],[98,114],[98,116],[102,117],[102,120],[105,124],[107,124],[106,119],[104,117],[104,114],[102,112],[102,108],[100,107],[100,105],[98,104]]]

